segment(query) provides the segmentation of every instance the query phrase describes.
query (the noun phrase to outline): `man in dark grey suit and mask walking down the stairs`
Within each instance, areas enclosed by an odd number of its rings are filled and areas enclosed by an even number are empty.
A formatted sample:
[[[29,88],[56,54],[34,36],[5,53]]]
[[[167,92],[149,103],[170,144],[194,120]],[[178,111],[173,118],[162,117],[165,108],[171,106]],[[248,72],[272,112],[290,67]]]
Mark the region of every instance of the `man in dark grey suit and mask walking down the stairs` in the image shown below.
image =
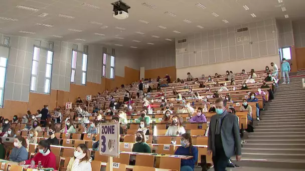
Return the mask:
[[[241,141],[238,117],[226,110],[227,102],[222,98],[215,101],[216,114],[211,117],[208,139],[208,155],[213,152],[215,171],[224,171],[231,156],[241,158]]]

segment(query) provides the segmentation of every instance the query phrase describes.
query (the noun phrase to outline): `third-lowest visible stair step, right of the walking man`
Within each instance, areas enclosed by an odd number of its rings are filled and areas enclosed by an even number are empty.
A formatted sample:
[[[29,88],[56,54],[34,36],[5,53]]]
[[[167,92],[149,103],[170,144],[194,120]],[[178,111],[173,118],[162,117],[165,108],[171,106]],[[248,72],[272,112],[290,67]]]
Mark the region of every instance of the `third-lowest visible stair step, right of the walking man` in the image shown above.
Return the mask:
[[[244,153],[284,153],[284,154],[305,154],[305,148],[242,148]],[[304,158],[305,159],[305,158]]]

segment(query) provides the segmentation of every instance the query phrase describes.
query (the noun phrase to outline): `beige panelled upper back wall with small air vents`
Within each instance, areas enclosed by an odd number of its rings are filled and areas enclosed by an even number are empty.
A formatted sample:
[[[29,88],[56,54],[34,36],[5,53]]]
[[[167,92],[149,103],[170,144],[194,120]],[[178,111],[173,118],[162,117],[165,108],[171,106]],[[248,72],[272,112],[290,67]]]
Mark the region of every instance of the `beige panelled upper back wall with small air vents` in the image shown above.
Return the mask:
[[[179,53],[176,50],[176,68],[276,55],[278,40],[275,24],[275,18],[268,18],[176,37],[176,49],[188,49]],[[248,31],[237,32],[237,28],[241,27],[248,27]],[[237,40],[244,36],[248,36],[249,40]],[[187,42],[178,43],[177,40],[182,38],[187,38]]]

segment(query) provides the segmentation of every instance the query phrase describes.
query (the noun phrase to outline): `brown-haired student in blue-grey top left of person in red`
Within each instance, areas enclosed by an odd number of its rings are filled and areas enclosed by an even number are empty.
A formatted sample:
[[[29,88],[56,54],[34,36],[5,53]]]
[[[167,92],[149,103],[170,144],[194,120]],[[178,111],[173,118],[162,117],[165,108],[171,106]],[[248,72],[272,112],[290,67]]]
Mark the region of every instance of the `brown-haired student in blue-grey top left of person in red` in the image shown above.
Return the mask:
[[[26,139],[20,135],[14,138],[14,148],[10,154],[10,161],[20,162],[28,159],[27,142]]]

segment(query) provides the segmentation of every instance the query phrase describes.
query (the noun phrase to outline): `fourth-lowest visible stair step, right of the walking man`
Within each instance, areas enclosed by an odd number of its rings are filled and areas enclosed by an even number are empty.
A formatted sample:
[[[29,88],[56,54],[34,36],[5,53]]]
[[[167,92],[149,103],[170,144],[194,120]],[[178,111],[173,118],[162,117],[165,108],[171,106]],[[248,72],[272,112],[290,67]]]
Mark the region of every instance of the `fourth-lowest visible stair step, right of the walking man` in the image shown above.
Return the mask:
[[[243,148],[302,148],[305,149],[303,143],[244,143]]]

